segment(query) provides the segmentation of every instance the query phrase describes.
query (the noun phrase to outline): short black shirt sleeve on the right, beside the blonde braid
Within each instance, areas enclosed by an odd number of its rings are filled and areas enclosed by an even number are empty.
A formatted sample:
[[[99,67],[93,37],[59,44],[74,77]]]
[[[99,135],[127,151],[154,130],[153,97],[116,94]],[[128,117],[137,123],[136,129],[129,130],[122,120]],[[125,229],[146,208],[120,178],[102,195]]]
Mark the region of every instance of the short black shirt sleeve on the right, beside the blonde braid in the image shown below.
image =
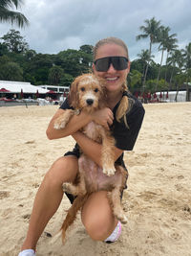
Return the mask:
[[[113,135],[116,139],[116,147],[123,151],[132,151],[136,140],[138,138],[138,132],[141,128],[145,110],[138,100],[135,101],[132,109],[126,114],[127,128],[123,121],[118,123],[115,121]]]

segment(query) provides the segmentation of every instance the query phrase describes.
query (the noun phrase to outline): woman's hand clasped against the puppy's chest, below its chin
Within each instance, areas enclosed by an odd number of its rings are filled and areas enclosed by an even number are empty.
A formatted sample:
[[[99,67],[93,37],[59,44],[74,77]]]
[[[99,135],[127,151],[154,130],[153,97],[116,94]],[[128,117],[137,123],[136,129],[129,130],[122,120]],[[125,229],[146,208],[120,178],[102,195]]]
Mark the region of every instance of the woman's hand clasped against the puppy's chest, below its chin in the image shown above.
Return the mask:
[[[92,114],[92,118],[96,124],[110,129],[109,126],[111,126],[114,121],[114,114],[109,107],[105,107],[103,109],[96,110],[96,112]]]

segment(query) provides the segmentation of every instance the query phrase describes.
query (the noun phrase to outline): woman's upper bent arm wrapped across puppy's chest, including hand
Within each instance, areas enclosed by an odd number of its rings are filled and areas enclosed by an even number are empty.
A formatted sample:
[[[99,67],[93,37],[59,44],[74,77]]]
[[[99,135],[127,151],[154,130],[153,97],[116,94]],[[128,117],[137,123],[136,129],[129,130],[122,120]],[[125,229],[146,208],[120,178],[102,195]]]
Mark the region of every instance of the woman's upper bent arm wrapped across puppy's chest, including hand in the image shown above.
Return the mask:
[[[97,110],[92,113],[87,113],[84,111],[81,111],[79,115],[74,115],[67,126],[65,128],[61,129],[55,129],[53,128],[54,120],[64,112],[65,110],[59,108],[55,114],[53,115],[53,118],[47,128],[47,137],[52,139],[58,139],[63,138],[69,135],[72,135],[75,131],[79,130],[80,128],[85,127],[88,123],[95,121],[97,124],[108,128],[109,125],[112,125],[113,123],[113,112],[110,108],[105,107],[101,110]]]

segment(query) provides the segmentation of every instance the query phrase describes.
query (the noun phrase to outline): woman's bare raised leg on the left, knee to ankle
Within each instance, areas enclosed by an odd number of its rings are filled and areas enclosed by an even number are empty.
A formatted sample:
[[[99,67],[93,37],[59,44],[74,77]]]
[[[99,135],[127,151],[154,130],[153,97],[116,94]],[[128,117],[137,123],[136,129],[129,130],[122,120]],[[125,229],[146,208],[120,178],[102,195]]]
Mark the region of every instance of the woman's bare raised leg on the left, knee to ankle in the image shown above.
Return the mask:
[[[59,207],[63,197],[62,183],[73,182],[77,171],[78,163],[75,156],[63,156],[53,163],[34,199],[30,225],[22,250],[35,250],[45,226]]]

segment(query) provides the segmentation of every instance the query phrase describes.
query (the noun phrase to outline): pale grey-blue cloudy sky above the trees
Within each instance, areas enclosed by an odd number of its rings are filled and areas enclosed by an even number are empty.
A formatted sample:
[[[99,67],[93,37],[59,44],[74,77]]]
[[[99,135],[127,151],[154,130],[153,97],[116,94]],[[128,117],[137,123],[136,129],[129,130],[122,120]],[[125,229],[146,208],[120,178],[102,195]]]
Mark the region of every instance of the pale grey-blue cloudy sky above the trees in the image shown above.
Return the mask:
[[[190,0],[23,0],[19,8],[30,26],[18,29],[0,24],[0,36],[19,30],[37,53],[57,54],[83,44],[95,45],[100,38],[117,36],[129,47],[131,59],[148,49],[149,39],[136,40],[139,27],[153,16],[177,34],[180,48],[191,42]],[[156,45],[154,52],[157,52]],[[154,53],[159,61],[159,54]]]

